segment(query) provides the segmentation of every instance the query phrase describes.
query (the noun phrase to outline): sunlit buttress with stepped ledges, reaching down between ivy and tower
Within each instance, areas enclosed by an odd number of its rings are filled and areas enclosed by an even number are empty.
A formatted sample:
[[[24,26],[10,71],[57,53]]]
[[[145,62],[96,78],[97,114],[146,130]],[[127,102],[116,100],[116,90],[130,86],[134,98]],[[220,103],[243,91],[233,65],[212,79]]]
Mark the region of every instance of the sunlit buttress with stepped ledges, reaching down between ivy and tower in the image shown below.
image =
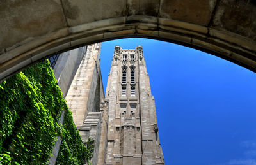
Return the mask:
[[[98,160],[101,131],[100,103],[104,103],[100,50],[101,43],[87,46],[66,96],[68,108],[72,111],[82,141],[86,142],[88,138],[95,141],[91,160],[93,165],[97,164]]]

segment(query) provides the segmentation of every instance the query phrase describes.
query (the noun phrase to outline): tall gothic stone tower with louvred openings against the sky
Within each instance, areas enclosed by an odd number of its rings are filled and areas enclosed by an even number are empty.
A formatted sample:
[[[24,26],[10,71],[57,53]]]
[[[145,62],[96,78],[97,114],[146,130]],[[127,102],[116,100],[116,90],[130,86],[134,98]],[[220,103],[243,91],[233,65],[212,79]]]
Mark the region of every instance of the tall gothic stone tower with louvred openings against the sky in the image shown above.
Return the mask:
[[[108,133],[102,164],[164,164],[141,46],[115,47],[105,100]]]

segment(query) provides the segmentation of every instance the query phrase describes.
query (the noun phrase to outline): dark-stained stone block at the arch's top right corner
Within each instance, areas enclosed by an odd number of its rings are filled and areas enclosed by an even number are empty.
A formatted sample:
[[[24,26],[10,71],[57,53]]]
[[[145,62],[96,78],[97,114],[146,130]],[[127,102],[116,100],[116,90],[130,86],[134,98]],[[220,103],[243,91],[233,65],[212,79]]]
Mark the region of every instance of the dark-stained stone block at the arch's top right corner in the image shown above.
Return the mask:
[[[214,15],[213,26],[256,41],[255,1],[220,1]]]

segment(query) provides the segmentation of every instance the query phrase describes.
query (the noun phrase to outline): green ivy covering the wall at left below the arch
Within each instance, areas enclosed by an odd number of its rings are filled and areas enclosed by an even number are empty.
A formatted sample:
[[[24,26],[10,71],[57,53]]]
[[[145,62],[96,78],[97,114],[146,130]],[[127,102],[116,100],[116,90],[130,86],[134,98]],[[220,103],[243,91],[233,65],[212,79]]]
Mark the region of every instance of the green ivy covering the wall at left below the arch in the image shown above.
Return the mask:
[[[84,147],[47,60],[0,83],[0,164],[47,164],[57,135],[56,164],[90,159],[92,148]]]

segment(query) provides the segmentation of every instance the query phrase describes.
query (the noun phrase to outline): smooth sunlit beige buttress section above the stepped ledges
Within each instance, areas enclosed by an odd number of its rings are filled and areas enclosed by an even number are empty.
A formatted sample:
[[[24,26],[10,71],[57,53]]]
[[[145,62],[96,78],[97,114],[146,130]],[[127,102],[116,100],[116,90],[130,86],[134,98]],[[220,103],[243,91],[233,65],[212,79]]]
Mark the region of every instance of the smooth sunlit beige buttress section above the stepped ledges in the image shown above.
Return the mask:
[[[83,126],[93,101],[99,76],[100,43],[89,45],[67,93],[67,104],[76,126]],[[94,110],[95,111],[95,110]],[[99,110],[97,110],[99,111]]]

